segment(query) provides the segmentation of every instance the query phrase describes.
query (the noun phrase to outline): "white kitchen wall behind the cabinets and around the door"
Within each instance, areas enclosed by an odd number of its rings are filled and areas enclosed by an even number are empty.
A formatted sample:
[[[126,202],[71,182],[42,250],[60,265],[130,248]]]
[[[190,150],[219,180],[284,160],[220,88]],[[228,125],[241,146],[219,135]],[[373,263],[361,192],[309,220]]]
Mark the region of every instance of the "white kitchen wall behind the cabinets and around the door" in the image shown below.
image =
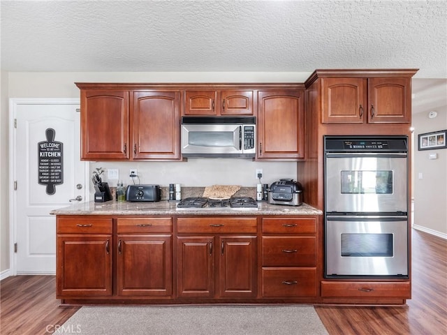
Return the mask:
[[[311,73],[1,73],[0,272],[9,269],[8,233],[8,99],[79,98],[74,82],[305,82]],[[91,163],[90,168],[118,168],[120,179],[131,183],[129,169],[138,169],[142,184],[170,183],[183,186],[238,184],[255,186],[256,168],[263,169],[262,181],[279,177],[296,178],[296,163],[258,163],[247,159],[190,159],[188,162]],[[107,177],[107,174],[105,175]],[[107,178],[105,178],[107,179]],[[112,181],[112,186],[116,181]]]

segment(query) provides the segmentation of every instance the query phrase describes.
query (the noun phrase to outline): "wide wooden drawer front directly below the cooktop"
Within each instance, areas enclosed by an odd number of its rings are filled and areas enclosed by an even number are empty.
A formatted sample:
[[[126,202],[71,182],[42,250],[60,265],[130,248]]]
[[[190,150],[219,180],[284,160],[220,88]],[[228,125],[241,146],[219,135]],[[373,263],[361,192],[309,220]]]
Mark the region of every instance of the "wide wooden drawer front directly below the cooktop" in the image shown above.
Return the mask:
[[[256,218],[177,218],[177,232],[182,233],[255,233]]]

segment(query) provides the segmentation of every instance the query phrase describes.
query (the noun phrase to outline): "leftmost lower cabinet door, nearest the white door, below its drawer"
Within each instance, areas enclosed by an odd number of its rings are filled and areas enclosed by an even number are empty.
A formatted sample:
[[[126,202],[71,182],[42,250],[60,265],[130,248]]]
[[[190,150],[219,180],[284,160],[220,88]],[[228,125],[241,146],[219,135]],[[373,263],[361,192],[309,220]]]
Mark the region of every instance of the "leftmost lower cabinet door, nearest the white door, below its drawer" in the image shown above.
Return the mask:
[[[57,236],[57,298],[112,295],[112,235]]]

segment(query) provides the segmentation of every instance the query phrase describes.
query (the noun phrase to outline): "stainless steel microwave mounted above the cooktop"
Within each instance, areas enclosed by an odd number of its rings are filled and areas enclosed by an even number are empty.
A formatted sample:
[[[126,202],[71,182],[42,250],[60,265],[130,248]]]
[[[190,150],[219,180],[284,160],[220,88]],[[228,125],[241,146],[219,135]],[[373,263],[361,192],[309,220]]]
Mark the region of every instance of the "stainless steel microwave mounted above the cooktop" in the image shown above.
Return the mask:
[[[182,117],[183,157],[253,158],[256,117]]]

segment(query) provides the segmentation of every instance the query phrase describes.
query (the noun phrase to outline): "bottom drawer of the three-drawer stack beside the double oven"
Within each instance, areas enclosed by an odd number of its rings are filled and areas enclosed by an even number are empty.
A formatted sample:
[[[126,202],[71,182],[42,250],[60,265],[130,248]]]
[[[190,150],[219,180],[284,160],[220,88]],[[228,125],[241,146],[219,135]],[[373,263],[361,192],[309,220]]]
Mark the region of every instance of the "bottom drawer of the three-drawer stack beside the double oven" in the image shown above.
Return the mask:
[[[272,267],[262,269],[263,297],[316,297],[316,268],[288,269]]]

